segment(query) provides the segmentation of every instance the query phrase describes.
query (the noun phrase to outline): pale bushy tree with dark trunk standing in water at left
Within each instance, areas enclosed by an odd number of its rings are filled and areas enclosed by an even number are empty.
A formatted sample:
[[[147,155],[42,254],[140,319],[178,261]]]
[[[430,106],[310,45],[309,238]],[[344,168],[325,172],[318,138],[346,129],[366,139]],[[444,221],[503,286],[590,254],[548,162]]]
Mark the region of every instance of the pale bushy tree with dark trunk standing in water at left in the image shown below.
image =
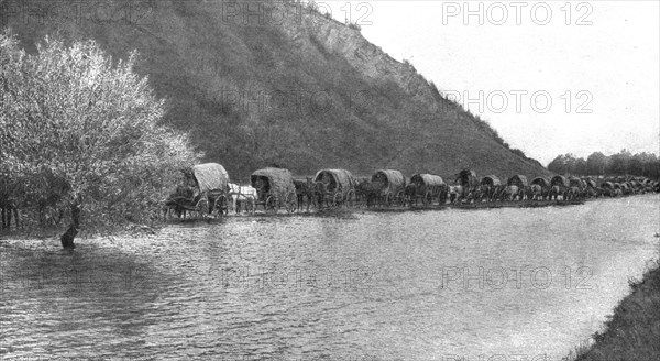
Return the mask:
[[[0,171],[66,185],[63,247],[74,247],[84,219],[114,227],[157,215],[178,169],[198,155],[186,136],[158,125],[164,101],[133,72],[136,55],[113,66],[91,41],[46,37],[34,55],[8,33],[0,44]]]

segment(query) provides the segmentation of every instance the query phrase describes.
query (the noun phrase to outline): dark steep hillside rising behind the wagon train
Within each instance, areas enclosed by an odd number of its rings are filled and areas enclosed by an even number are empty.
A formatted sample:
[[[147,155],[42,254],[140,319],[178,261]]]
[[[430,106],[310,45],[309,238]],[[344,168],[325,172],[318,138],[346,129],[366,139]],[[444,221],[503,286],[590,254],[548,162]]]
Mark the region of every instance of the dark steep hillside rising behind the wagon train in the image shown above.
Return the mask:
[[[232,177],[273,164],[295,174],[322,167],[446,177],[464,167],[502,177],[548,174],[354,26],[299,4],[265,3],[289,17],[246,23],[228,17],[228,3],[242,3],[221,1],[101,1],[58,21],[48,2],[15,3],[11,12],[11,1],[1,4],[2,25],[28,50],[54,32],[91,37],[116,58],[138,50],[138,70],[168,99],[165,121],[187,130]],[[21,17],[34,9],[41,21]]]

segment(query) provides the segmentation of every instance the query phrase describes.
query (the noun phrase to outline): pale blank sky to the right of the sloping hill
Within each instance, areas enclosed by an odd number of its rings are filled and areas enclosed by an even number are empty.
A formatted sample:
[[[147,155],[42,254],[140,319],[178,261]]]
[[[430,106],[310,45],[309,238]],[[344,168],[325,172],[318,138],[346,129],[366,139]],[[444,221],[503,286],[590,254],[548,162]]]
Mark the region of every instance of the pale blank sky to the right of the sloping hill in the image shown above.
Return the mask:
[[[326,3],[543,164],[660,153],[660,1]]]

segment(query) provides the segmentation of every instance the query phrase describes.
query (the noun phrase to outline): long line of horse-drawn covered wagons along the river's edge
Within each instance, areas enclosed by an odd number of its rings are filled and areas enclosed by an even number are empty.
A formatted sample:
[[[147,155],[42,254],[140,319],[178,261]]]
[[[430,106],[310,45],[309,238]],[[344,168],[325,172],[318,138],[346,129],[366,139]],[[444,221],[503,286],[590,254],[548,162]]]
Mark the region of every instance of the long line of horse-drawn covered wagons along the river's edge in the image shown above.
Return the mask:
[[[475,207],[483,205],[579,204],[587,198],[619,197],[660,192],[645,177],[536,177],[516,174],[508,179],[459,172],[453,179],[433,174],[406,177],[396,169],[380,169],[371,177],[354,177],[346,169],[321,169],[314,177],[294,178],[285,168],[255,171],[250,184],[230,182],[217,163],[195,165],[165,201],[166,216],[221,217],[230,212],[296,212],[352,207]]]

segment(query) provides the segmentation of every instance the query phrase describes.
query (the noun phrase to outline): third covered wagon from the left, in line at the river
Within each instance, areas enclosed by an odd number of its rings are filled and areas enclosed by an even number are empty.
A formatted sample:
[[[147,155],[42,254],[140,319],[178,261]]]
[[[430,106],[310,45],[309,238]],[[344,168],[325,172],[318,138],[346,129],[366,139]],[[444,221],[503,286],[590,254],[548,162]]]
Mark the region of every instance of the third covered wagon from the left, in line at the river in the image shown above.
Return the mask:
[[[338,206],[352,204],[355,199],[356,182],[351,172],[346,169],[322,169],[314,177],[315,184],[320,183],[316,189],[326,204]]]

